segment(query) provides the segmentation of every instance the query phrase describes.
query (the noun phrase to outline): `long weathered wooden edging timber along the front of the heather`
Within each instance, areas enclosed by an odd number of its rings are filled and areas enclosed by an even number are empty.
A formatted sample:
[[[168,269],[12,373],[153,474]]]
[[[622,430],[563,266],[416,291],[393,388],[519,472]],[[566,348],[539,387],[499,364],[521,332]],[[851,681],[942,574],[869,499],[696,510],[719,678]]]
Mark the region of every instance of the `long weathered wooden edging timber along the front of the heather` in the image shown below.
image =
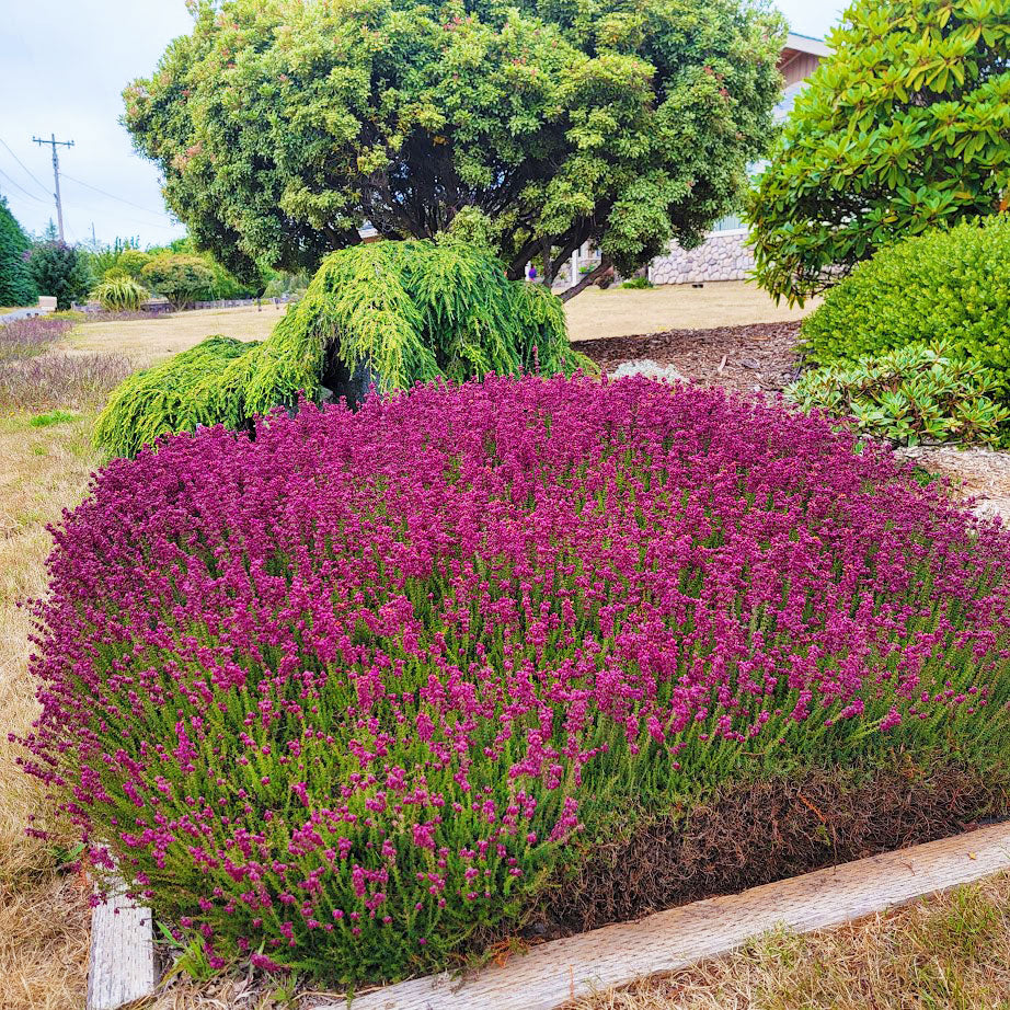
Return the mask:
[[[462,979],[415,978],[314,1010],[556,1010],[569,1000],[725,954],[778,926],[840,926],[1010,869],[1010,824],[709,898],[535,946]]]

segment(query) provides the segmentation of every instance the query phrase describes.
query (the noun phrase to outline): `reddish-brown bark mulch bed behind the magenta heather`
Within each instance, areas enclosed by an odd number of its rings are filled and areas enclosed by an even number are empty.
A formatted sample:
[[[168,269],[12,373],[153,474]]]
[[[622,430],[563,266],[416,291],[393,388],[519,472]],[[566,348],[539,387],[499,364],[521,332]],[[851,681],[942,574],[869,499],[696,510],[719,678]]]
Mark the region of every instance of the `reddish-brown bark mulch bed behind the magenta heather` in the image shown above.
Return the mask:
[[[704,386],[738,392],[778,392],[799,372],[800,324],[754,323],[714,330],[667,330],[636,336],[577,341],[575,348],[604,371],[623,361],[649,358],[673,365]]]

